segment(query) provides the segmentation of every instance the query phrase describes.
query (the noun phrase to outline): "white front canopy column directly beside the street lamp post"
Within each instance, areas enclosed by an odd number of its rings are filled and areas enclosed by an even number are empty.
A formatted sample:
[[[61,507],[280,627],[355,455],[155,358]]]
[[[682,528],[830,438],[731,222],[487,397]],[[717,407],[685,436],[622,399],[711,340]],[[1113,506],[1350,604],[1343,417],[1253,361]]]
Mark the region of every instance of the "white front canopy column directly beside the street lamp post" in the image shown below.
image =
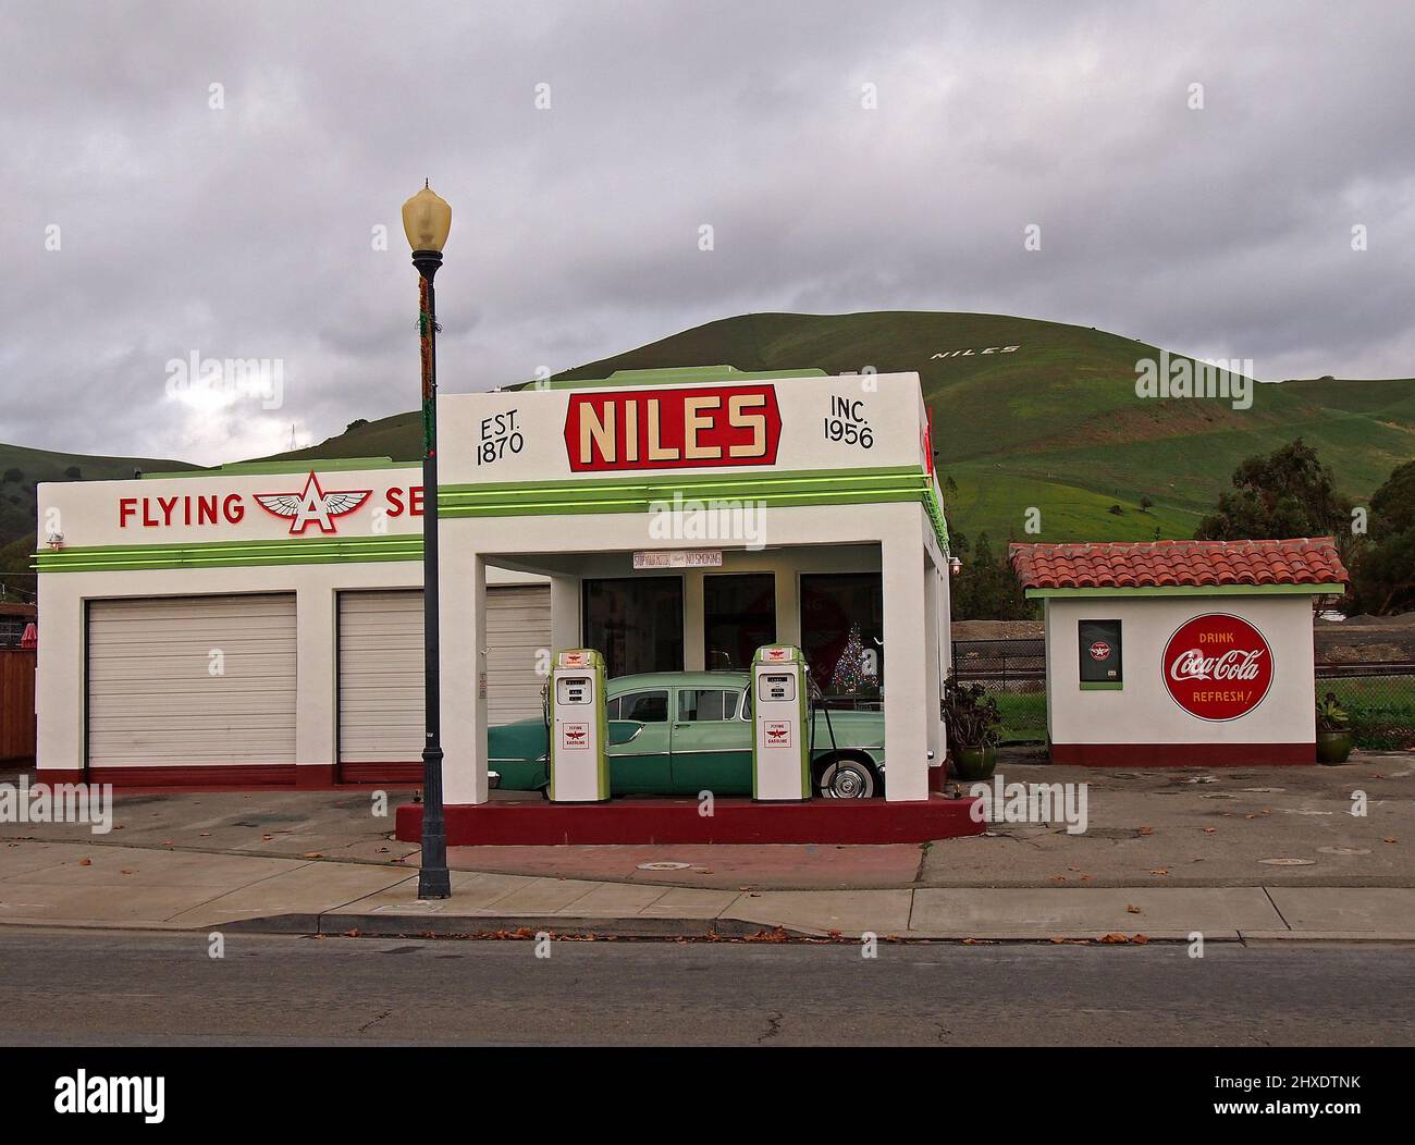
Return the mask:
[[[487,562],[473,548],[471,529],[458,524],[443,525],[439,536],[443,802],[449,807],[488,798]]]

